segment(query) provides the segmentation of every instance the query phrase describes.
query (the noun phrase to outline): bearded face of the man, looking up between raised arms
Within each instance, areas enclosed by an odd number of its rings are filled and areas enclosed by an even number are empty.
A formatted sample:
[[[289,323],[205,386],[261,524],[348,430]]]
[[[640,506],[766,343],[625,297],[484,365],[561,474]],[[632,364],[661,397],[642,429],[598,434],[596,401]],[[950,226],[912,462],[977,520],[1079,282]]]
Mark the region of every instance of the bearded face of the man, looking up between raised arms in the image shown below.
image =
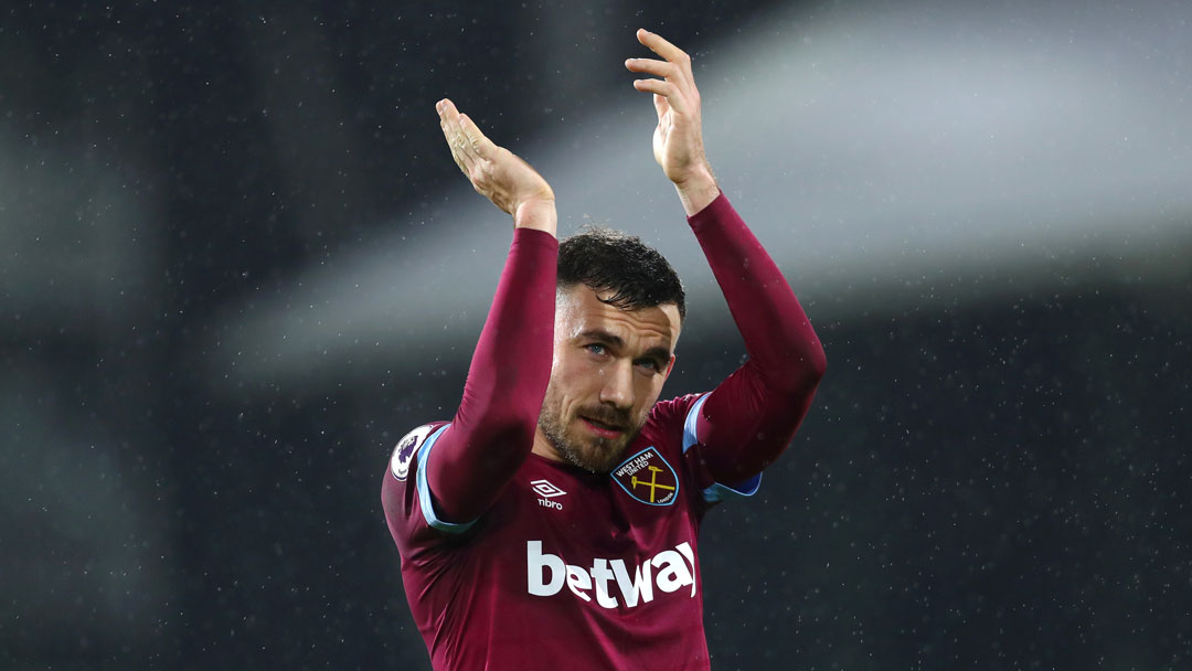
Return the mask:
[[[621,462],[675,364],[678,307],[621,310],[577,285],[554,309],[554,362],[538,425],[554,455],[594,473]]]

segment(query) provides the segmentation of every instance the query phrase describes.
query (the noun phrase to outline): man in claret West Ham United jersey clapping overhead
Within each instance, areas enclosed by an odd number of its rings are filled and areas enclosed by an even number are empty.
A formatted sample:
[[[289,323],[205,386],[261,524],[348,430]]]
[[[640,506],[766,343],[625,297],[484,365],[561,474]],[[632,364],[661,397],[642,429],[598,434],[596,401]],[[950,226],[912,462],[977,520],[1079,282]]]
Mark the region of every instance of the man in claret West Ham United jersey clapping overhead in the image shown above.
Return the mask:
[[[381,489],[406,598],[437,670],[708,669],[699,526],[750,496],[790,442],[824,353],[703,154],[690,58],[626,67],[658,112],[675,184],[750,360],[710,393],[656,403],[682,285],[623,234],[555,240],[554,193],[449,100],[452,156],[514,217],[514,241],[454,418],[393,451]],[[657,79],[654,79],[657,77]]]

